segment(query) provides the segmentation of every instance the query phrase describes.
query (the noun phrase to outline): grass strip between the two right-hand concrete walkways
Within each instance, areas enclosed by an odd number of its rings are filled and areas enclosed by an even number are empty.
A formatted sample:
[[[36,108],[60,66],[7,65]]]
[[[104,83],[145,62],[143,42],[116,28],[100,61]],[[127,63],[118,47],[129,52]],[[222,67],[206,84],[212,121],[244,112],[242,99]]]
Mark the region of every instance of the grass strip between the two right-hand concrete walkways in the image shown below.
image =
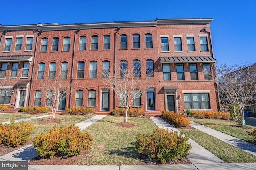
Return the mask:
[[[203,146],[227,163],[256,162],[256,156],[216,139],[202,131],[197,129],[182,130],[199,145]]]

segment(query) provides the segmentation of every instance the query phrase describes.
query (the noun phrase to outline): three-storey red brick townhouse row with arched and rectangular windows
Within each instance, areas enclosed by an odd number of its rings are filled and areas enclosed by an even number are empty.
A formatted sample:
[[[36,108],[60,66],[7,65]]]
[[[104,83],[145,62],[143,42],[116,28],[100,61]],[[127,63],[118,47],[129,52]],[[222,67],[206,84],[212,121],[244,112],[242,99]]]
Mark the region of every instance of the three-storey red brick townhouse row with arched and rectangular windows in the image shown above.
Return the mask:
[[[58,110],[84,106],[109,111],[120,102],[106,87],[102,72],[120,74],[124,64],[140,63],[141,78],[147,78],[148,66],[155,72],[150,88],[133,107],[148,113],[187,107],[217,111],[215,84],[208,76],[216,62],[212,20],[0,25],[0,74],[9,83],[1,87],[8,90],[0,103],[10,108],[46,106],[42,81],[61,74],[72,87]]]

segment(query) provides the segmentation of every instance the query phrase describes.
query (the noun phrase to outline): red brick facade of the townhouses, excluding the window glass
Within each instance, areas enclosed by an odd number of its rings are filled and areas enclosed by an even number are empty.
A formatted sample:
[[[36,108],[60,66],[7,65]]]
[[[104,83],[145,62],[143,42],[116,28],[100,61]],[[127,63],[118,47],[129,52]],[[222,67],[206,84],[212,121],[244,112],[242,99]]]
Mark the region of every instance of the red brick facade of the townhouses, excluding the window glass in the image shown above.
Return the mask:
[[[24,106],[34,106],[36,98],[36,90],[42,90],[42,81],[49,78],[50,63],[56,63],[56,75],[60,74],[62,63],[68,63],[67,78],[65,81],[72,83],[72,87],[68,89],[66,100],[63,103],[63,108],[73,107],[79,103],[84,107],[93,108],[95,111],[105,111],[108,109],[114,109],[119,106],[118,99],[113,98],[112,90],[106,90],[107,86],[102,78],[102,64],[103,61],[109,61],[110,70],[116,71],[119,74],[120,61],[126,60],[128,67],[133,67],[133,61],[139,60],[141,63],[141,78],[146,78],[146,61],[152,60],[154,63],[154,77],[150,84],[151,92],[145,92],[141,96],[141,106],[145,111],[163,111],[168,110],[170,107],[170,100],[173,98],[171,104],[174,111],[182,112],[185,109],[184,95],[188,94],[207,94],[209,96],[208,102],[209,108],[213,111],[218,110],[217,94],[214,88],[214,82],[212,80],[205,80],[204,78],[204,63],[209,63],[211,70],[214,70],[214,62],[216,61],[185,61],[183,62],[184,78],[185,80],[177,80],[176,64],[181,62],[163,62],[160,57],[212,57],[212,44],[210,35],[210,21],[212,19],[184,19],[184,20],[156,20],[156,21],[139,21],[139,22],[113,22],[113,23],[86,23],[86,24],[38,24],[38,25],[0,25],[0,32],[2,32],[0,42],[0,62],[8,62],[6,70],[6,79],[9,84],[8,87],[14,93],[11,95],[10,107],[19,108],[19,102],[23,99],[20,98],[21,88],[26,85],[26,98],[23,103]],[[30,29],[26,29],[30,27]],[[31,29],[34,28],[34,29]],[[24,29],[24,30],[22,30]],[[4,30],[7,30],[4,31]],[[207,31],[207,32],[206,32]],[[16,48],[16,37],[23,35],[21,51],[13,52]],[[33,35],[32,50],[26,51],[27,35]],[[104,44],[104,36],[110,36],[110,42]],[[120,36],[127,36],[127,48],[121,48]],[[139,35],[139,48],[133,47],[133,35]],[[146,35],[152,36],[151,45],[146,47]],[[4,51],[6,46],[6,38],[12,36],[12,43],[10,51]],[[28,36],[28,37],[29,37]],[[92,49],[96,47],[92,36],[98,37],[98,49]],[[64,42],[65,37],[70,37],[69,50],[64,50],[68,41]],[[86,37],[86,49],[80,49],[80,38]],[[162,51],[161,49],[161,37],[168,37],[169,51]],[[182,51],[174,51],[174,37],[181,37]],[[194,37],[195,51],[188,51],[186,37]],[[200,37],[206,37],[207,49],[201,50]],[[42,51],[42,39],[48,39],[47,50]],[[53,47],[54,38],[58,38],[58,49]],[[136,39],[136,38],[135,38]],[[106,40],[106,39],[105,39]],[[137,38],[138,40],[138,38]],[[106,44],[107,43],[107,44]],[[110,43],[110,49],[104,49],[108,47]],[[138,42],[137,42],[138,43]],[[151,43],[151,42],[150,42]],[[104,46],[107,45],[107,46]],[[44,46],[45,47],[45,46]],[[30,62],[30,59],[23,59],[23,55],[32,56],[32,62],[29,66],[29,74],[27,78],[22,78],[23,63]],[[14,60],[9,60],[5,56],[15,56]],[[26,58],[26,57],[25,57]],[[28,58],[28,57],[27,57]],[[96,78],[90,78],[90,62],[96,62]],[[10,72],[12,70],[12,63],[19,62],[17,78],[10,79]],[[84,62],[84,74],[83,78],[78,78],[78,62]],[[44,79],[38,79],[39,63],[44,63]],[[191,80],[190,78],[190,63],[195,63],[197,68],[198,80]],[[33,65],[34,64],[34,65]],[[170,65],[170,79],[164,80],[162,64]],[[143,66],[144,65],[144,66]],[[80,65],[81,66],[81,65]],[[94,67],[95,68],[95,67]],[[91,70],[93,72],[93,70]],[[82,73],[79,73],[79,76]],[[95,76],[95,74],[94,74]],[[21,77],[21,78],[20,78]],[[25,82],[25,83],[22,83]],[[18,89],[17,89],[18,87]],[[23,89],[24,90],[24,89]],[[71,92],[70,92],[71,90]],[[82,97],[80,100],[76,99],[76,91],[82,90]],[[89,90],[95,90],[95,104],[94,106],[88,106]],[[148,105],[149,96],[154,96],[154,108],[150,108]],[[106,99],[106,96],[109,98]],[[82,98],[82,100],[81,100]],[[196,101],[193,97],[193,102],[196,106]],[[90,99],[91,100],[91,99]],[[205,97],[199,101],[202,105]],[[106,103],[102,101],[107,101]],[[168,102],[169,101],[169,102]],[[187,101],[187,97],[186,97]],[[207,102],[207,101],[206,101]],[[105,105],[104,105],[105,104]],[[187,101],[187,104],[188,101]],[[40,105],[46,105],[46,95],[42,94]],[[103,106],[104,105],[104,106]],[[200,109],[205,109],[201,108]]]

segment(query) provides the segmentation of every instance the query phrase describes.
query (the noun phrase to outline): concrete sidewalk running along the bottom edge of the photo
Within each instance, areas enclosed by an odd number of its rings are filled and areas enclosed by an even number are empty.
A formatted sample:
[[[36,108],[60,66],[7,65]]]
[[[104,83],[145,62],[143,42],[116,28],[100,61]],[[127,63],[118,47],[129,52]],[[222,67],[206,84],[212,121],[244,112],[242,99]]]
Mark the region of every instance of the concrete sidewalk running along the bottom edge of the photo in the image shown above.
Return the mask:
[[[28,165],[28,170],[255,170],[256,163],[174,165]]]

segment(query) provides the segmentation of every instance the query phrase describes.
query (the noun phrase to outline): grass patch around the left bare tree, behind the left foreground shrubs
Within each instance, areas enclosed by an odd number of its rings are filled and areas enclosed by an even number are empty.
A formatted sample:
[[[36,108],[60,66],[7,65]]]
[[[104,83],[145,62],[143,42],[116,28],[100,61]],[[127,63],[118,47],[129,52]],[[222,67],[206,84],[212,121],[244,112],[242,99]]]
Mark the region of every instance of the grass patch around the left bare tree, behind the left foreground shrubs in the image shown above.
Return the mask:
[[[86,115],[86,116],[81,116],[81,115],[56,115],[55,118],[56,119],[60,119],[62,122],[61,123],[52,123],[52,124],[48,124],[48,125],[38,125],[37,123],[44,120],[44,119],[48,119],[49,117],[43,117],[40,119],[34,119],[34,120],[30,120],[30,123],[32,123],[32,125],[34,125],[34,131],[31,134],[32,136],[35,136],[37,133],[42,133],[42,132],[48,132],[49,129],[53,128],[55,125],[57,127],[60,127],[62,125],[72,125],[72,124],[76,124],[79,123],[81,121],[84,121],[86,119],[89,119],[90,117],[92,117],[91,115]]]

